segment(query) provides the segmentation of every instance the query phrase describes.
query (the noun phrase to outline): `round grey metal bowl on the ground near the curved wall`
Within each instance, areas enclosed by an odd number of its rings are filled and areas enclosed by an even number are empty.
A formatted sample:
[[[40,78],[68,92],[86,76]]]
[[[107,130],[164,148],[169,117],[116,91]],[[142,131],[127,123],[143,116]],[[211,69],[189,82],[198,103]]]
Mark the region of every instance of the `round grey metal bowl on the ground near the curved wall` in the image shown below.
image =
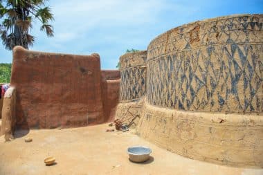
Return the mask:
[[[136,146],[129,147],[127,152],[129,154],[129,160],[136,163],[143,163],[149,159],[149,154],[152,153],[152,149],[149,149],[149,147]]]

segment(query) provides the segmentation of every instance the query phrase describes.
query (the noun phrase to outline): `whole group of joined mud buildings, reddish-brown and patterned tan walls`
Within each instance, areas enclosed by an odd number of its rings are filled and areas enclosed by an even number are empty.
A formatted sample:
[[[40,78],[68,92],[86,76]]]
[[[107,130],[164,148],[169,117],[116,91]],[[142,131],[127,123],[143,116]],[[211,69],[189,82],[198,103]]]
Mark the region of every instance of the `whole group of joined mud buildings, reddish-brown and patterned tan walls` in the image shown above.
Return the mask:
[[[262,24],[263,15],[233,15],[179,26],[147,50],[121,56],[120,71],[101,71],[98,54],[16,47],[10,82],[16,104],[3,108],[2,118],[15,110],[16,128],[116,118],[175,154],[262,168]]]

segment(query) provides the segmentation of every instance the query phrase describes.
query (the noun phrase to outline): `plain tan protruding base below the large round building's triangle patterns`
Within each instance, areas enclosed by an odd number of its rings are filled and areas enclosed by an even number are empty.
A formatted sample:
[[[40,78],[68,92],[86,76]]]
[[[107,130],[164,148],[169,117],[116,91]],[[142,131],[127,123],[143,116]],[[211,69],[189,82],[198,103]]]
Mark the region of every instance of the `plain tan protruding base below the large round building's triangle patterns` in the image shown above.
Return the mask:
[[[262,116],[190,112],[145,102],[139,136],[181,156],[237,167],[263,167]]]

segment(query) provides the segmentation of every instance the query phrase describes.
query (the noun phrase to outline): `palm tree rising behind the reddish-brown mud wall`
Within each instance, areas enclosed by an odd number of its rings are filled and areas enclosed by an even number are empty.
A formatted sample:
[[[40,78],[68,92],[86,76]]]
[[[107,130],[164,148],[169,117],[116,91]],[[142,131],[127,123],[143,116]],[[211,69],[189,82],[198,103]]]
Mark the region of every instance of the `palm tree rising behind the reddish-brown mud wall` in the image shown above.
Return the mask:
[[[6,49],[15,46],[33,46],[35,37],[28,31],[33,28],[33,19],[38,19],[48,37],[53,37],[53,26],[48,24],[53,20],[53,14],[45,0],[0,0],[0,35]]]

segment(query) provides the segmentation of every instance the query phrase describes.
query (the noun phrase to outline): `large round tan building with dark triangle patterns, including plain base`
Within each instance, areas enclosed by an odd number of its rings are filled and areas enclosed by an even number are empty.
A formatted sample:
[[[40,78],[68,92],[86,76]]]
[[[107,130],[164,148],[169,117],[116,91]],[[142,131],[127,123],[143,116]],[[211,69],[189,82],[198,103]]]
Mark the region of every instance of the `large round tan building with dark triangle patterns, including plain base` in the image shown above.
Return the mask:
[[[262,22],[219,17],[156,37],[138,135],[189,158],[263,167]]]

